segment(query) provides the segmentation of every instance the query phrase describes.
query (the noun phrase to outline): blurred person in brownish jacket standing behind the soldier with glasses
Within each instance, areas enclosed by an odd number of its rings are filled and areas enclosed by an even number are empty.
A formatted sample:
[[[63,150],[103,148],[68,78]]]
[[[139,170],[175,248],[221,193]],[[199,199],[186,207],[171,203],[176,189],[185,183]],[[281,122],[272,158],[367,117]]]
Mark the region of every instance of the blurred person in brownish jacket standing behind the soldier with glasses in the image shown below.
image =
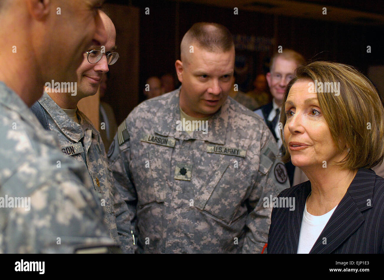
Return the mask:
[[[107,90],[107,82],[109,72],[103,75],[100,83],[100,99],[105,96]],[[111,142],[118,131],[118,125],[116,124],[115,114],[113,113],[112,106],[106,102],[100,100],[99,107],[99,120],[100,120],[100,135],[103,140],[105,151],[107,152]]]

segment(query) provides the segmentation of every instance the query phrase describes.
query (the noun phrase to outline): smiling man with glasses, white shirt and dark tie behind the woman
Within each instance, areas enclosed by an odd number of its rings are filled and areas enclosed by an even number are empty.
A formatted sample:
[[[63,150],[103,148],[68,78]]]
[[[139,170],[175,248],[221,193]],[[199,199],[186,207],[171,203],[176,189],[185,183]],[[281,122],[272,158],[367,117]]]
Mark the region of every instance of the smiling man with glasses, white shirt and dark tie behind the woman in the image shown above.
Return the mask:
[[[283,142],[280,138],[278,123],[285,88],[290,80],[293,79],[296,68],[299,65],[304,64],[304,62],[304,57],[291,49],[283,49],[282,52],[276,52],[271,58],[270,72],[266,74],[266,80],[273,96],[273,100],[255,111],[255,113],[263,117],[265,123],[276,139],[277,146],[280,149]],[[285,167],[292,186],[295,166],[292,162],[287,162]]]

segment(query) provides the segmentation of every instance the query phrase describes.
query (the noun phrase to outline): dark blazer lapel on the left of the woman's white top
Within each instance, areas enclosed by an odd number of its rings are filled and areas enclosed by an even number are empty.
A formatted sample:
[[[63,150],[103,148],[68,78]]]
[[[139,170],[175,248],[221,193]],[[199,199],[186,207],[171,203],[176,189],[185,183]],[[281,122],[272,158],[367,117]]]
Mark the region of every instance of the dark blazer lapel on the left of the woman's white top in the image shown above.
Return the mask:
[[[311,183],[306,181],[292,195],[295,197],[298,209],[288,211],[288,229],[285,232],[285,248],[287,254],[296,254],[299,244],[301,220],[303,219],[305,201],[311,192]]]

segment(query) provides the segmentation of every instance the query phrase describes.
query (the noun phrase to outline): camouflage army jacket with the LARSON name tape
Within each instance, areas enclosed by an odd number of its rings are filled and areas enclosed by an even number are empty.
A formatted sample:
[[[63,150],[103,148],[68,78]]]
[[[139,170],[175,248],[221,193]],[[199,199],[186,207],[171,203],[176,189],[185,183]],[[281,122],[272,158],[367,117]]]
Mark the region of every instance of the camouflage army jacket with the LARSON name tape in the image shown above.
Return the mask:
[[[177,131],[179,92],[137,106],[124,124],[129,139],[119,145],[115,136],[108,152],[116,186],[134,213],[135,249],[262,252],[271,217],[263,198],[289,187],[286,178],[282,184],[275,178],[280,161],[265,152],[278,152],[275,139],[262,118],[229,97],[208,120],[207,134]],[[175,145],[141,141],[147,135],[174,139]],[[209,153],[209,145],[245,150],[246,156]],[[185,178],[175,178],[183,166]]]

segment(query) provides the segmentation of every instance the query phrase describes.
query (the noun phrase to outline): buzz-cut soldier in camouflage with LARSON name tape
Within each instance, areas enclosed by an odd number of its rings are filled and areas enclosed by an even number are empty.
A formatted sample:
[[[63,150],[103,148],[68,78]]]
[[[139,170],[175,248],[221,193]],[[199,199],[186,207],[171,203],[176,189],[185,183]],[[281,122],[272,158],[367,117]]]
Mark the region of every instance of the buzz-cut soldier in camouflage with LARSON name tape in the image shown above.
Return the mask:
[[[134,216],[138,252],[260,253],[288,188],[262,118],[228,97],[235,47],[222,25],[196,23],[175,63],[182,86],[137,106],[108,152]]]

